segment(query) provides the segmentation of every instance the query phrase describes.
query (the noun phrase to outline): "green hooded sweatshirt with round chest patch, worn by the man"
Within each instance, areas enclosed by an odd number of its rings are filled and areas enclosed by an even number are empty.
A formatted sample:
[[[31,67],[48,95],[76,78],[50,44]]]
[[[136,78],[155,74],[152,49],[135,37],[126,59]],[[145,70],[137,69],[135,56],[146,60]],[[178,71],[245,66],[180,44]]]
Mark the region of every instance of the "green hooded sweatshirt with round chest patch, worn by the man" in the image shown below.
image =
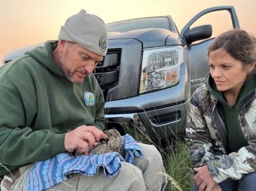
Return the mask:
[[[68,81],[54,47],[57,42],[46,42],[0,68],[0,163],[10,171],[65,152],[68,129],[104,129],[104,97],[95,77]],[[0,176],[5,173],[0,167]]]

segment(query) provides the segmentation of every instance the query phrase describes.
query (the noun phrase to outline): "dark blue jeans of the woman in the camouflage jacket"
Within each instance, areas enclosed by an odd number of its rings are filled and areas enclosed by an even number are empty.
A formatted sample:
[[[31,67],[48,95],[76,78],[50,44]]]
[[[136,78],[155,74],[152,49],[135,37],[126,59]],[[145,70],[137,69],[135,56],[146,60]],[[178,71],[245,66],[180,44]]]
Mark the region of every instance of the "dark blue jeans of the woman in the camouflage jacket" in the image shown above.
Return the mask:
[[[218,183],[223,191],[237,191],[238,187],[241,191],[256,190],[256,172],[245,174],[240,180],[226,179]],[[193,183],[192,191],[197,191],[198,187]]]

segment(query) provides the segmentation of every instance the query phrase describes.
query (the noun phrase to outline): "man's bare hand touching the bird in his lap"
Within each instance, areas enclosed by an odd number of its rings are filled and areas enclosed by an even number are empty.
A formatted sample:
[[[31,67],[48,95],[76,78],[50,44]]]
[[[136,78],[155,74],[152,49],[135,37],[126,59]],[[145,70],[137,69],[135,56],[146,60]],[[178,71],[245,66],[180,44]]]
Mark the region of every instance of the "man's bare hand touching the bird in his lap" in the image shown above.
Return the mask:
[[[95,126],[82,125],[65,134],[65,150],[68,152],[76,150],[77,153],[87,155],[99,139],[108,139],[108,136]]]

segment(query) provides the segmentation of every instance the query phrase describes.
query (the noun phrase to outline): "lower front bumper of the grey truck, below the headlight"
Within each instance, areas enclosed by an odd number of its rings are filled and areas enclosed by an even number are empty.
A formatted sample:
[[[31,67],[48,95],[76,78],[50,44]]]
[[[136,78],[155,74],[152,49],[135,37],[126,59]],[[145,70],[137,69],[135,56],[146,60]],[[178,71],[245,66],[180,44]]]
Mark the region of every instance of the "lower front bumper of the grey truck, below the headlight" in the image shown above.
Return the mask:
[[[188,101],[139,113],[106,114],[105,118],[107,122],[117,122],[121,126],[128,124],[129,128],[136,128],[152,142],[161,143],[183,132],[187,108]]]

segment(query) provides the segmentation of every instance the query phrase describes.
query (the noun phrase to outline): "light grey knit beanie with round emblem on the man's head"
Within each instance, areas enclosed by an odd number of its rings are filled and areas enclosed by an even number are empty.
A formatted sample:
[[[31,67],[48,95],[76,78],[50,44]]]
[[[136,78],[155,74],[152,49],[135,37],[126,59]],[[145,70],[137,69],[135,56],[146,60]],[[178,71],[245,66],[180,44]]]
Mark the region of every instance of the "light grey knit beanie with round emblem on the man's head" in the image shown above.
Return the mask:
[[[107,37],[104,21],[96,15],[86,14],[82,9],[65,21],[58,39],[78,43],[98,55],[105,56],[108,48]]]

